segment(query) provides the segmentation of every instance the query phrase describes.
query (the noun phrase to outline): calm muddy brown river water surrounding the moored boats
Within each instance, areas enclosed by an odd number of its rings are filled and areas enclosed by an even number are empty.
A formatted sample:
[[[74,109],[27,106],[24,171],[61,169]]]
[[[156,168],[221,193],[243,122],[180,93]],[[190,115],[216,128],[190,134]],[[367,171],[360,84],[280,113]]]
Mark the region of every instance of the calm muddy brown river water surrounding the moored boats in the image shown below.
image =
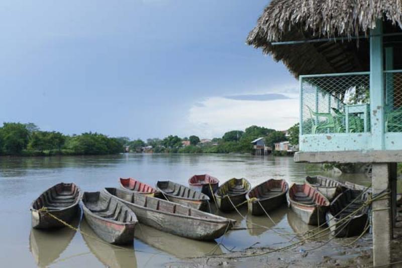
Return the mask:
[[[246,208],[240,209],[241,215],[217,212],[236,219],[244,228],[230,231],[214,242],[194,241],[141,224],[136,229],[134,245],[128,247],[100,242],[85,222],[81,222],[80,228],[90,234],[89,237],[68,228],[52,232],[31,229],[30,203],[58,182],[74,182],[84,191],[96,191],[118,187],[119,176],[134,176],[152,185],[158,179],[186,185],[188,178],[197,173],[212,174],[221,183],[231,177],[246,177],[255,186],[271,177],[303,182],[306,175],[322,171],[315,165],[296,164],[291,157],[232,154],[3,157],[0,158],[2,266],[154,267],[182,257],[219,254],[253,245],[285,245],[291,237],[288,233],[314,228],[283,206],[270,213],[272,220],[247,215]],[[345,175],[343,178],[360,184],[369,183],[363,175]],[[73,224],[78,226],[78,220]]]

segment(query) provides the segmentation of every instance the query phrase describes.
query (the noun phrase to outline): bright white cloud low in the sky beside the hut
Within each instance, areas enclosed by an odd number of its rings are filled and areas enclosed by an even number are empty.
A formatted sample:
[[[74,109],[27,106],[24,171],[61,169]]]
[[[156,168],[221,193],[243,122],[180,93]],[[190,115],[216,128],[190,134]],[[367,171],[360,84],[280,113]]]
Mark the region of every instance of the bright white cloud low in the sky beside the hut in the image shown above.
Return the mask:
[[[280,93],[289,99],[255,101],[211,97],[197,102],[183,122],[182,133],[211,138],[220,137],[229,130],[244,130],[251,125],[287,129],[298,120],[299,101],[294,90],[283,92]]]

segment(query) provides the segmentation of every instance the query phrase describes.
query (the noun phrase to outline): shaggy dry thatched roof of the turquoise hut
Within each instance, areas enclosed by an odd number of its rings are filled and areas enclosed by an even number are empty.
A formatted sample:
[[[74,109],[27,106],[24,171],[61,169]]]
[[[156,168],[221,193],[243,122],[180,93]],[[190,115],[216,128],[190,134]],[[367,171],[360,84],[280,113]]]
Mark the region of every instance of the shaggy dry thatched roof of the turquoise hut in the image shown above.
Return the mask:
[[[272,0],[249,33],[247,44],[281,60],[295,75],[366,71],[366,35],[377,19],[388,32],[402,28],[400,0]],[[344,41],[273,46],[272,42],[345,37]],[[388,38],[395,41],[395,37]],[[398,40],[400,38],[398,37]],[[385,41],[385,39],[384,39]]]

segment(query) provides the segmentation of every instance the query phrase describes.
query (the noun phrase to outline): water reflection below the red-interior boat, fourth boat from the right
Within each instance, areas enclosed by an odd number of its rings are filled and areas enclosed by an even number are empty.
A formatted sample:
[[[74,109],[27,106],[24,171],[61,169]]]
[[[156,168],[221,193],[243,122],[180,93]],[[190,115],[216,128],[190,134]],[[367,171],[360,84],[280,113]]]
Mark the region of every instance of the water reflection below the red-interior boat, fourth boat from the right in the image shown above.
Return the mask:
[[[278,209],[268,212],[269,217],[271,217],[274,222],[272,222],[266,215],[253,216],[251,214],[247,214],[246,226],[249,234],[253,236],[258,236],[268,231],[268,228],[275,227],[275,225],[283,220],[288,210],[288,207],[286,205],[283,205]],[[266,228],[260,227],[258,225],[264,226]]]

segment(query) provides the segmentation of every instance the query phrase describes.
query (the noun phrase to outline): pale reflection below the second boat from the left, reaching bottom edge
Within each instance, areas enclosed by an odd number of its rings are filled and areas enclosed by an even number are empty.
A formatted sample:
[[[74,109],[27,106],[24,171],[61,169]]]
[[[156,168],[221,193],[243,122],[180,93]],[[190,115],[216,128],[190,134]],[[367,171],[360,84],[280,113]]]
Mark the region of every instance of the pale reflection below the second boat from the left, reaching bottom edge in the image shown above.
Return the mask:
[[[85,244],[95,257],[107,267],[137,267],[137,259],[133,245],[114,246],[104,242],[89,227],[85,220],[82,220],[80,229],[88,235],[82,234]],[[93,238],[93,237],[96,237]]]

